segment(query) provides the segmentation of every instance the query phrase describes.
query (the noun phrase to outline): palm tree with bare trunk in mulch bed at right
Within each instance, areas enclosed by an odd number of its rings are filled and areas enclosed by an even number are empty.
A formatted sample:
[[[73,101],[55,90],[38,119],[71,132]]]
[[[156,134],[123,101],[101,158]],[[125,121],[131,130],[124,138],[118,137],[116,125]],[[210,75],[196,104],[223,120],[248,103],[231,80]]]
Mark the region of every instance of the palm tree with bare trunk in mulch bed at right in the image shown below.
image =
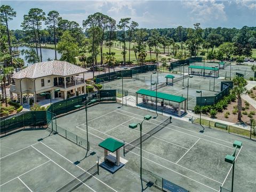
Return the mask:
[[[233,79],[233,90],[232,92],[237,95],[237,109],[238,109],[238,121],[241,121],[241,111],[242,111],[242,98],[241,95],[246,92],[245,85],[247,84],[246,80],[244,79],[243,76],[239,77],[236,75]]]

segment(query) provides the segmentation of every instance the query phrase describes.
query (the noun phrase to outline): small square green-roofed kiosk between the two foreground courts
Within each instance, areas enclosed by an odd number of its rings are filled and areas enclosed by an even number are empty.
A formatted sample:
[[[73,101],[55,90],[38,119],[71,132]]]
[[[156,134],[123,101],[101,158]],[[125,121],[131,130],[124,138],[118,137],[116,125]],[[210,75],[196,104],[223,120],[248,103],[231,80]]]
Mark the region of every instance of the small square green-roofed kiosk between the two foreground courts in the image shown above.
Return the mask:
[[[110,171],[111,173],[114,173],[124,165],[120,163],[120,148],[124,146],[123,142],[117,141],[113,138],[107,138],[99,143],[99,146],[104,149],[104,162],[100,166]],[[108,154],[108,151],[112,153],[116,151],[116,157]],[[108,169],[110,164],[112,165],[110,166],[111,169]],[[117,168],[113,169],[114,166],[117,166]]]

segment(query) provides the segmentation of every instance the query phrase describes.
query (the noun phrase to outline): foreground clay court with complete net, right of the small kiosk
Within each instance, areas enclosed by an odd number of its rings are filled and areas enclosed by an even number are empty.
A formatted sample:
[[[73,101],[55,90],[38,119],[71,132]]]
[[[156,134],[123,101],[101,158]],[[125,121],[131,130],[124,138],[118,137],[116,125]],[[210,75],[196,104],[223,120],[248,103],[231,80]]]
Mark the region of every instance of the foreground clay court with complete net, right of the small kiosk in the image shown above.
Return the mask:
[[[146,114],[156,115],[132,107],[119,107],[120,105],[115,103],[95,105],[88,109],[90,149],[96,151],[100,157],[103,156],[103,151],[98,144],[102,140],[111,137],[130,143],[139,138],[140,132],[139,128],[130,129],[129,124],[141,122]],[[145,121],[142,132],[148,133],[155,127],[159,127],[159,124],[166,118],[166,116],[159,115],[156,119]],[[79,137],[86,138],[84,110],[58,118],[57,124]],[[224,158],[227,154],[233,153],[234,140],[242,140],[244,147],[237,151],[236,177],[239,177],[239,180],[237,179],[235,186],[237,191],[244,187],[248,187],[247,191],[252,191],[255,182],[253,181],[253,186],[247,185],[247,182],[252,181],[244,177],[253,178],[255,174],[249,167],[250,162],[246,160],[248,155],[250,158],[255,155],[255,151],[248,154],[248,151],[252,150],[255,145],[253,141],[235,135],[227,137],[227,133],[212,129],[200,133],[201,126],[178,119],[174,119],[171,124],[166,122],[162,126],[164,126],[163,129],[159,129],[142,144],[142,167],[146,170],[143,172],[143,177],[150,177],[149,174],[154,173],[190,191],[219,191],[222,185],[230,188],[231,166],[224,161]],[[117,191],[139,191],[140,185],[136,182],[139,181],[139,154],[139,146],[135,146],[125,156],[122,156],[128,162],[121,170],[113,175],[100,170],[97,178]],[[147,190],[155,191],[156,188],[151,187]]]

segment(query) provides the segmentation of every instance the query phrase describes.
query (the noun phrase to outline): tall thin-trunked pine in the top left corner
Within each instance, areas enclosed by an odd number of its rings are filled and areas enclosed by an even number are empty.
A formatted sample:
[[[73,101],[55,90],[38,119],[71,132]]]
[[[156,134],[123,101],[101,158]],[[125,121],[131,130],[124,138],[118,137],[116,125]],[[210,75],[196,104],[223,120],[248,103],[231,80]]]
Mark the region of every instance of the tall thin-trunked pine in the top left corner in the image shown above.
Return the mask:
[[[11,21],[13,19],[13,17],[16,17],[16,12],[13,11],[12,7],[10,5],[1,5],[0,20],[1,20],[1,23],[3,23],[6,26],[10,55],[12,55],[12,47],[11,47],[11,39],[10,39],[8,21]],[[11,64],[12,64],[12,58],[11,58]]]

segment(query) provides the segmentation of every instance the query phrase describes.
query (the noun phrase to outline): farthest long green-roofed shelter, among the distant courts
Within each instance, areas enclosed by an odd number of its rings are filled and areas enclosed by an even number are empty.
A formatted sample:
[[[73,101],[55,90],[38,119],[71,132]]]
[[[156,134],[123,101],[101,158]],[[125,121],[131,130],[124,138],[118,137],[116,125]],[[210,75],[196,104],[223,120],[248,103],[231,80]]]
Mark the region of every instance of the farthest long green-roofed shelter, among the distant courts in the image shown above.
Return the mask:
[[[189,70],[190,69],[190,70]],[[205,71],[209,71],[205,73]],[[205,66],[189,66],[188,75],[198,75],[205,77],[219,77],[219,67],[205,67]]]

